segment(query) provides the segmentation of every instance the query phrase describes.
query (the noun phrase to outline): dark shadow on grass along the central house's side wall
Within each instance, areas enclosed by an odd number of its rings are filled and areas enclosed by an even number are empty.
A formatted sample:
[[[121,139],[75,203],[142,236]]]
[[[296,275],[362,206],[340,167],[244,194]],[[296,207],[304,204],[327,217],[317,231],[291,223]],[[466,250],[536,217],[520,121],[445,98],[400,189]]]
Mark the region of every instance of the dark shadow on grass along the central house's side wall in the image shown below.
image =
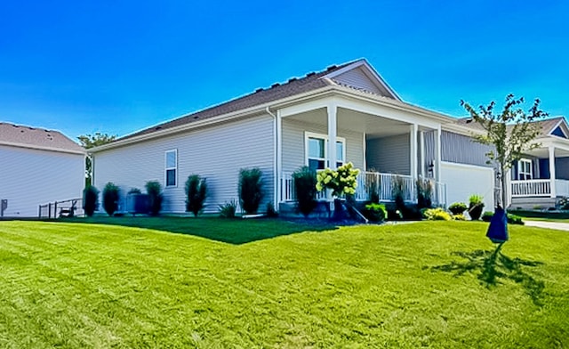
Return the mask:
[[[227,219],[219,217],[103,217],[60,218],[57,222],[120,225],[134,228],[195,235],[234,245],[271,239],[302,231],[328,231],[336,227],[328,222],[286,221],[277,218]]]

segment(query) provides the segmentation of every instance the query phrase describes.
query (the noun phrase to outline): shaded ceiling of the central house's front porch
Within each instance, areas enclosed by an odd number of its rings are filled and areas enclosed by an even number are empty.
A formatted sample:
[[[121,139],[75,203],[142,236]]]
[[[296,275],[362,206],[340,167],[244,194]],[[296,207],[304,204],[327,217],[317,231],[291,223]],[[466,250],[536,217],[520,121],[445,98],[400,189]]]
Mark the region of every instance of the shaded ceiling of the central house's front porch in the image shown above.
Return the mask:
[[[287,119],[299,120],[318,126],[328,126],[328,115],[324,108],[296,114],[287,117]],[[402,121],[343,108],[338,108],[337,120],[338,129],[365,133],[368,139],[408,134],[411,125]]]

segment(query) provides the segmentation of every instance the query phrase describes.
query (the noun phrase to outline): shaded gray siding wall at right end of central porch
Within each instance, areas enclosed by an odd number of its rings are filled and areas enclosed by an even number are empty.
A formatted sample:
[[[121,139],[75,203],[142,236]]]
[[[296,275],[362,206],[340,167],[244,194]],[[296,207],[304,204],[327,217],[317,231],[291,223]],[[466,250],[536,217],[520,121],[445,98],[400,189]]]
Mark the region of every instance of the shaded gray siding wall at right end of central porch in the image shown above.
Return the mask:
[[[378,172],[411,173],[410,134],[376,138],[367,142],[367,168]]]

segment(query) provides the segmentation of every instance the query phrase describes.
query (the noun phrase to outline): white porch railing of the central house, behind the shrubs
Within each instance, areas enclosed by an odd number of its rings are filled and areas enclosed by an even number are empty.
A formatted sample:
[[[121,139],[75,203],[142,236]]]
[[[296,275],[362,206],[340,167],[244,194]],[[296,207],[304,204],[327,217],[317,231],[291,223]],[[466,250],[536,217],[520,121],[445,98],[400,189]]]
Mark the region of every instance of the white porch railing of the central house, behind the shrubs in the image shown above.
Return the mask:
[[[438,183],[431,178],[424,178],[431,185],[431,201],[434,205],[446,205],[446,185]],[[294,201],[293,174],[281,175],[280,201]],[[365,201],[371,199],[373,191],[376,191],[380,201],[393,201],[394,186],[396,181],[401,181],[403,198],[407,202],[417,201],[417,184],[410,175],[382,174],[379,172],[362,172],[357,176],[356,199]],[[317,199],[326,199],[325,191],[317,193]]]

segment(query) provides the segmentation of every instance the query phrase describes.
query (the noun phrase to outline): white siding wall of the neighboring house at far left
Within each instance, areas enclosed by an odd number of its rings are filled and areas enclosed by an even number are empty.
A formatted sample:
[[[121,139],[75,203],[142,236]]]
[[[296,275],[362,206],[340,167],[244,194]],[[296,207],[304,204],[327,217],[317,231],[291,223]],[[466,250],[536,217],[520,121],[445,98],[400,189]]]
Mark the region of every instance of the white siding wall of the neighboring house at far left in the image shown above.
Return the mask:
[[[4,216],[36,217],[39,205],[83,196],[84,155],[0,145]]]

